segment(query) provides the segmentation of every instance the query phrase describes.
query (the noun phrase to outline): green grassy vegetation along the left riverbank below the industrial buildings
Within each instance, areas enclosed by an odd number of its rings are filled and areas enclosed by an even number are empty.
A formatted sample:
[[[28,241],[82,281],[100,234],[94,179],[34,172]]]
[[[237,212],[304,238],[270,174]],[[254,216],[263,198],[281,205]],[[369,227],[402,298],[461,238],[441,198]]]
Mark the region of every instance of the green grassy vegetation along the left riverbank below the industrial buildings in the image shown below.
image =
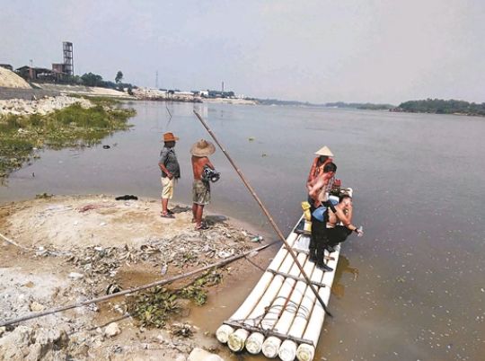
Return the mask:
[[[117,101],[90,99],[93,107],[75,103],[46,115],[0,117],[0,178],[38,157],[40,148],[91,146],[117,130],[126,130],[135,110],[121,109]]]

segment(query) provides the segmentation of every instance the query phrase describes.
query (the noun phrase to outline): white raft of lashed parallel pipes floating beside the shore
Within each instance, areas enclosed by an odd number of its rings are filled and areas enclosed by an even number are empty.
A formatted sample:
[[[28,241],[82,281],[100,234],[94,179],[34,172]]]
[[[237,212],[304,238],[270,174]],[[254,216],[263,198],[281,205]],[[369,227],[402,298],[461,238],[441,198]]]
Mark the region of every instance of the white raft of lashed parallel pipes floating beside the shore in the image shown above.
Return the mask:
[[[296,225],[302,220],[303,216]],[[288,235],[287,243],[295,251],[298,262],[327,305],[340,245],[332,253],[325,251],[325,263],[333,271],[323,272],[308,259],[310,236],[296,233],[295,228]],[[279,357],[283,361],[295,358],[312,361],[324,319],[322,304],[283,245],[251,294],[216,330],[216,338],[234,352],[246,348],[252,355],[262,352],[265,357]]]

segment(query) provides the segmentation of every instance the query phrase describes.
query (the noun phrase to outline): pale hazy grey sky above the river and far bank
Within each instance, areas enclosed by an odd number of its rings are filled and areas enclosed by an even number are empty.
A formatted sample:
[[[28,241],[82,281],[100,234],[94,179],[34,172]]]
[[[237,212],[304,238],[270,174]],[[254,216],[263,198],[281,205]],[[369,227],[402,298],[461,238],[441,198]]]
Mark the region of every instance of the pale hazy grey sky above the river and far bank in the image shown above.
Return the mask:
[[[0,63],[298,101],[485,101],[484,0],[0,0]]]

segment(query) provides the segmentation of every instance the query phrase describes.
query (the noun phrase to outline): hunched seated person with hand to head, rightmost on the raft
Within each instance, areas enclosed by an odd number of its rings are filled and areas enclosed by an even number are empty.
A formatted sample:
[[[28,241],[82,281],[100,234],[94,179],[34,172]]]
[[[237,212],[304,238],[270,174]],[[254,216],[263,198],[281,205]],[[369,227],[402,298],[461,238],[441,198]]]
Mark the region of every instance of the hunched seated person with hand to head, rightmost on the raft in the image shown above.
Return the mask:
[[[328,220],[326,225],[325,249],[335,251],[335,246],[347,240],[350,233],[355,232],[358,236],[364,234],[361,228],[352,225],[352,198],[348,194],[340,195],[339,204],[328,207]],[[343,225],[339,225],[339,223]]]

